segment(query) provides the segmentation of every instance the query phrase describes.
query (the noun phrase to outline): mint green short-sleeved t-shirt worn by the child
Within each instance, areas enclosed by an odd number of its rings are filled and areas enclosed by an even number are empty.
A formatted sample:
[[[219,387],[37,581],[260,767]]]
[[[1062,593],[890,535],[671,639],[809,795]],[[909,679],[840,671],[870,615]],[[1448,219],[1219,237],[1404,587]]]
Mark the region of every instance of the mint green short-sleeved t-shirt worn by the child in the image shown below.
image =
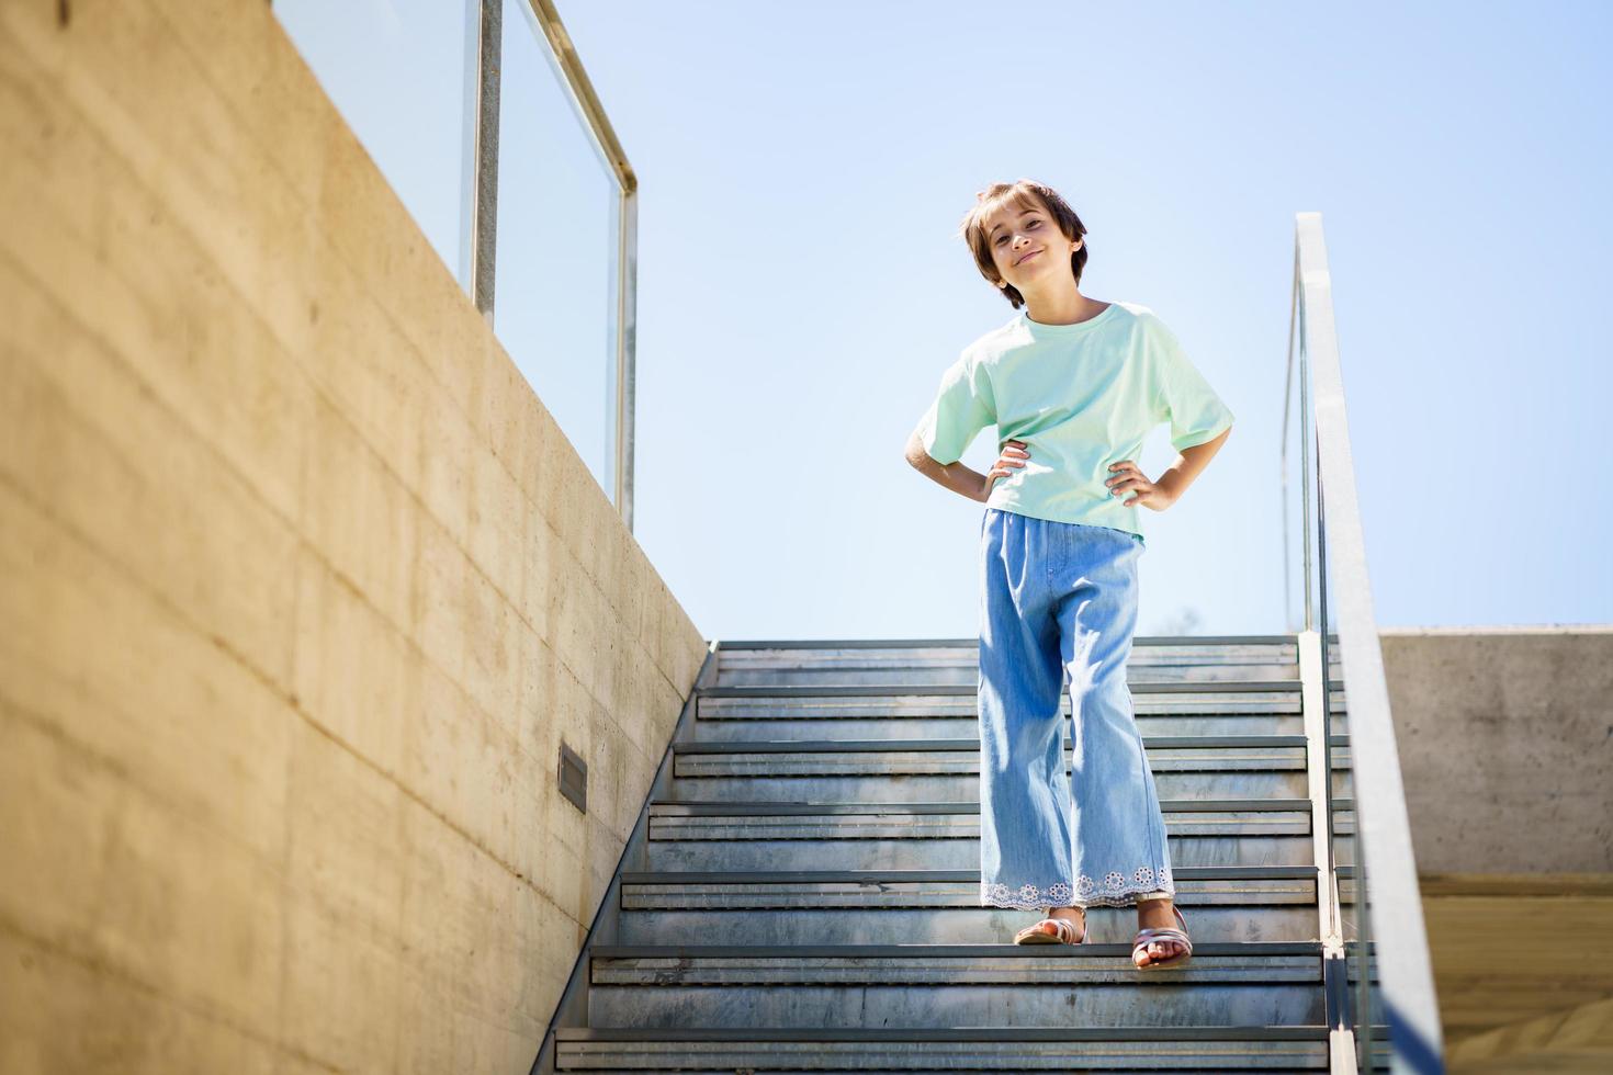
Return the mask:
[[[1023,440],[1031,458],[997,479],[987,508],[1140,537],[1142,506],[1126,508],[1132,493],[1115,496],[1103,482],[1113,463],[1142,466],[1144,437],[1161,422],[1181,451],[1219,437],[1232,411],[1152,309],[1110,303],[1079,324],[1040,324],[1021,311],[963,348],[919,434],[945,464],[997,425],[998,451]]]

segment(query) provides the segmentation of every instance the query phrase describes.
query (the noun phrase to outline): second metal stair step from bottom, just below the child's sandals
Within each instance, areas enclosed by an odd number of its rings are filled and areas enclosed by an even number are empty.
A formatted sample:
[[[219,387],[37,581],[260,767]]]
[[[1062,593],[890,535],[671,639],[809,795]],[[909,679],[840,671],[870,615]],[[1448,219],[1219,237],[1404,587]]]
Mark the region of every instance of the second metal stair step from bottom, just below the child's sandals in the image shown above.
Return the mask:
[[[589,982],[592,1027],[1215,1027],[1323,1017],[1315,943],[1195,943],[1189,964],[1150,973],[1131,964],[1129,944],[600,944]]]

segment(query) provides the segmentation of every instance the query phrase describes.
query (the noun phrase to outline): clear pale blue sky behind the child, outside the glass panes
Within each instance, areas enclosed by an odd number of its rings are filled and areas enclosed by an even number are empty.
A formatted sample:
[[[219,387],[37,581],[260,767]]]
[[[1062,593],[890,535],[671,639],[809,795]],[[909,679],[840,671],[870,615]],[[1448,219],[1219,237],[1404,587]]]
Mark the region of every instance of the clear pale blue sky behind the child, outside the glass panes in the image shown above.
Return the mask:
[[[1145,513],[1140,633],[1290,629],[1297,211],[1379,624],[1613,621],[1613,6],[558,8],[642,184],[636,532],[706,637],[976,633],[982,506],[902,450],[1013,314],[955,227],[1018,177],[1090,229],[1082,292],[1153,308],[1239,417]]]

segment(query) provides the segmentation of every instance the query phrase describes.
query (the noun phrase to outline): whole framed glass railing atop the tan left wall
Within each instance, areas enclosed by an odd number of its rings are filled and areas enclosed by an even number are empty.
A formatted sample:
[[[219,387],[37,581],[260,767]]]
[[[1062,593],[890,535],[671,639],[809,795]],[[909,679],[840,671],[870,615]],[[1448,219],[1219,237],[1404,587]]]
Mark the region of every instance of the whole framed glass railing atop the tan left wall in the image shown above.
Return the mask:
[[[631,529],[637,179],[553,0],[274,11]]]

